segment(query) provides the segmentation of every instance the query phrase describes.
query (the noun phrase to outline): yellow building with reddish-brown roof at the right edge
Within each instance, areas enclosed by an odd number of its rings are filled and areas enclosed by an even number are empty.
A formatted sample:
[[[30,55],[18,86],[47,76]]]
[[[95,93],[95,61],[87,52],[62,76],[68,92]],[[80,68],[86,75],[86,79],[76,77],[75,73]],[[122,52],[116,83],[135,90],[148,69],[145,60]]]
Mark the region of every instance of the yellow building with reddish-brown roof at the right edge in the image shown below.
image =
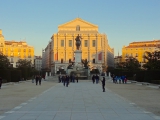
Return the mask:
[[[160,50],[160,40],[132,42],[122,48],[122,61],[127,57],[135,57],[140,63],[145,63],[143,56],[145,52],[154,52]]]

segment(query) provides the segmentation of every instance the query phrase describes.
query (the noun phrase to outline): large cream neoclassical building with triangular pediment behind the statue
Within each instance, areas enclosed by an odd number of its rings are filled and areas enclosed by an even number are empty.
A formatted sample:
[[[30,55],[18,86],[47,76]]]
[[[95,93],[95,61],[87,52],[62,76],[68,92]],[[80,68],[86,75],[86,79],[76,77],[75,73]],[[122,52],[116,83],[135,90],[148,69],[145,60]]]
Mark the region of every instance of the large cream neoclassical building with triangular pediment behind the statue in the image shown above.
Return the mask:
[[[82,38],[82,59],[89,61],[90,69],[97,68],[102,71],[102,64],[114,67],[114,49],[109,46],[107,35],[99,33],[97,25],[81,18],[58,26],[58,32],[52,35],[43,53],[46,61],[43,67],[49,67],[53,74],[59,69],[66,71],[69,63],[75,59],[77,35]]]

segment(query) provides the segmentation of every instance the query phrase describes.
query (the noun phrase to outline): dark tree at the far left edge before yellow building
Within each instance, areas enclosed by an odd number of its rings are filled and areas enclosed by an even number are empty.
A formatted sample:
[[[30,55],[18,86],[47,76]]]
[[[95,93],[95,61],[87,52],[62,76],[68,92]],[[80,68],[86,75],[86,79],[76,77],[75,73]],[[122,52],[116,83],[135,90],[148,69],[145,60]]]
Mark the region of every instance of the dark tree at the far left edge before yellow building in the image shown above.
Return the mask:
[[[0,53],[0,69],[7,69],[10,67],[10,62],[7,56]]]

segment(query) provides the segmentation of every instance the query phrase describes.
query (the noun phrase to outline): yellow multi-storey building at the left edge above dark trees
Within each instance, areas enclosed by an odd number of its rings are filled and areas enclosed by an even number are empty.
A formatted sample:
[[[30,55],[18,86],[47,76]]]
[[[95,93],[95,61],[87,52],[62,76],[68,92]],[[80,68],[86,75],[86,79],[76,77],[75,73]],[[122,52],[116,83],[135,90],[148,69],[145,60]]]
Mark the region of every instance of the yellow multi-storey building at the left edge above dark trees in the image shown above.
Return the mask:
[[[19,59],[31,60],[32,64],[34,63],[34,47],[25,41],[6,41],[2,30],[0,30],[0,52],[8,57],[13,67],[17,66]]]

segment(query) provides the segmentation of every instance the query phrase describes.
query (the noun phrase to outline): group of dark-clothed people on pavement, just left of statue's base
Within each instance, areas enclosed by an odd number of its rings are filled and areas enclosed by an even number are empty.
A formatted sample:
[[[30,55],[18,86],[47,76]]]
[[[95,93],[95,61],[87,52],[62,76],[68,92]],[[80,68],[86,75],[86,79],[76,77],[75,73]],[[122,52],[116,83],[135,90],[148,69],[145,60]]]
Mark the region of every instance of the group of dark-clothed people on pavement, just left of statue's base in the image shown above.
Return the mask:
[[[64,86],[68,87],[69,83],[70,82],[77,82],[78,83],[78,76],[75,76],[75,75],[59,75],[58,76],[58,80],[59,80],[59,83],[63,83]]]

